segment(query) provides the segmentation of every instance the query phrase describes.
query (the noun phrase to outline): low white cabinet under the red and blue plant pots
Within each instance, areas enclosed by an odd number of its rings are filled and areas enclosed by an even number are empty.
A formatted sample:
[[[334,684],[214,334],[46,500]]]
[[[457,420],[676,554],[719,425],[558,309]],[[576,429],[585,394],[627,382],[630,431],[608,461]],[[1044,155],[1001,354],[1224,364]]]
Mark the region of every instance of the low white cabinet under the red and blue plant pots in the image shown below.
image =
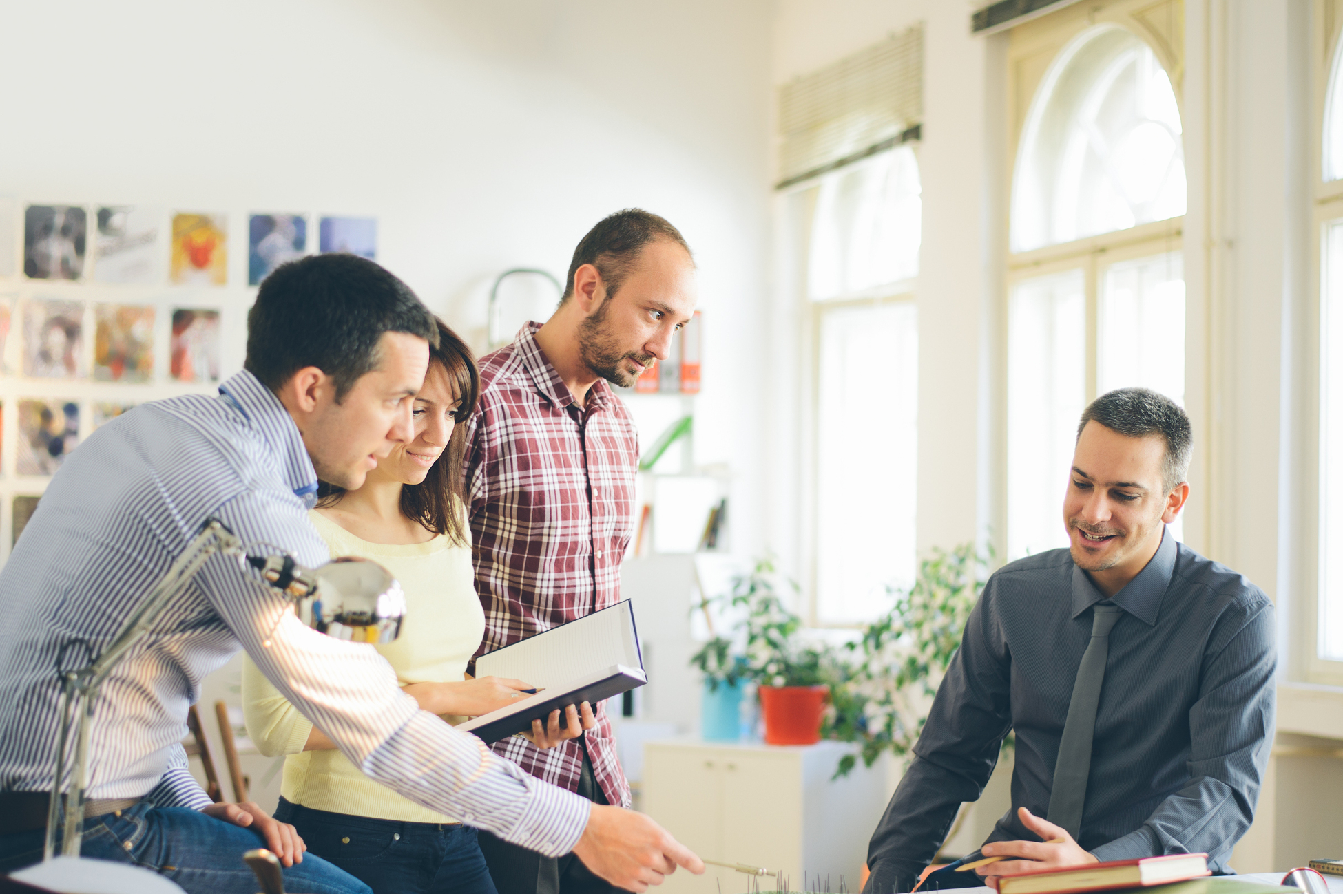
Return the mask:
[[[700,856],[782,868],[791,887],[802,874],[843,881],[850,891],[868,855],[868,839],[886,807],[884,764],[862,761],[831,781],[842,742],[772,746],[662,741],[643,746],[643,809]],[[676,873],[659,894],[740,894],[745,875],[709,867],[702,877]],[[760,879],[772,890],[774,878]],[[810,887],[810,885],[808,885]]]

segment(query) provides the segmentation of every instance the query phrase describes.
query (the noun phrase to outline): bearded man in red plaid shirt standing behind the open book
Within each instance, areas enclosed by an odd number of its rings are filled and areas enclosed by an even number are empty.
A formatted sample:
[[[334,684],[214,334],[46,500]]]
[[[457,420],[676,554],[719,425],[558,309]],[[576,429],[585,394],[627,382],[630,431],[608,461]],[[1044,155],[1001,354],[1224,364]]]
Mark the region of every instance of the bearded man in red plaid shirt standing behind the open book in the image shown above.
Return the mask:
[[[608,383],[629,388],[665,358],[694,305],[694,260],[681,234],[646,211],[619,211],[579,243],[545,325],[528,324],[481,358],[465,463],[485,607],[477,654],[619,601],[639,440]],[[557,748],[513,737],[494,750],[598,804],[629,807],[604,703],[582,707],[582,722],[568,709],[572,738]],[[553,738],[557,714],[549,726]],[[545,858],[485,832],[481,848],[500,894],[611,890],[572,854]]]

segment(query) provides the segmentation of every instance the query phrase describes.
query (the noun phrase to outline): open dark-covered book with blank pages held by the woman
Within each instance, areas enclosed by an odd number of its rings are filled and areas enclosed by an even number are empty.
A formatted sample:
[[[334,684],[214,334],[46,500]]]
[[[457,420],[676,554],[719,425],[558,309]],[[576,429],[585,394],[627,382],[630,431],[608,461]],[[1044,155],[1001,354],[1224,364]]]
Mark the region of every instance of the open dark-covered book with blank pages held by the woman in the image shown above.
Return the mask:
[[[649,682],[630,600],[486,652],[475,659],[475,675],[512,677],[540,690],[457,728],[486,744],[530,730],[555,709],[563,725],[569,705],[595,705]]]

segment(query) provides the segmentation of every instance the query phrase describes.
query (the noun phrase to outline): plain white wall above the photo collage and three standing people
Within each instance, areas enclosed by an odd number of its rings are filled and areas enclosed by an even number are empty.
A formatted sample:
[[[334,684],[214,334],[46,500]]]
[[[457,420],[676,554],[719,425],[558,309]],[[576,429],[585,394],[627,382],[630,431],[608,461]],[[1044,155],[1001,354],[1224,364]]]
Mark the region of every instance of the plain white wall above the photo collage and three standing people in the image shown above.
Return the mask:
[[[733,537],[752,548],[761,485],[740,458],[760,448],[760,345],[729,334],[763,314],[766,15],[763,0],[0,0],[0,195],[231,211],[234,282],[248,211],[373,215],[379,260],[478,345],[497,272],[563,278],[606,213],[662,213],[701,268],[698,458],[732,463]],[[226,372],[250,299],[227,290]]]

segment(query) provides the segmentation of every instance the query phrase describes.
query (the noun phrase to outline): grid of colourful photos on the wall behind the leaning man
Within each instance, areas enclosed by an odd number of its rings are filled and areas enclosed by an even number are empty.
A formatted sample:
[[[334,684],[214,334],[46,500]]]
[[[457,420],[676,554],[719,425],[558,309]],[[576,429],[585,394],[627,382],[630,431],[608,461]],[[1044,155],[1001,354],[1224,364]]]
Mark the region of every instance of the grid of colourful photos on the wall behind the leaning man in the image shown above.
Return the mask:
[[[0,558],[83,439],[138,404],[215,393],[242,366],[271,270],[376,250],[373,217],[0,195]]]

